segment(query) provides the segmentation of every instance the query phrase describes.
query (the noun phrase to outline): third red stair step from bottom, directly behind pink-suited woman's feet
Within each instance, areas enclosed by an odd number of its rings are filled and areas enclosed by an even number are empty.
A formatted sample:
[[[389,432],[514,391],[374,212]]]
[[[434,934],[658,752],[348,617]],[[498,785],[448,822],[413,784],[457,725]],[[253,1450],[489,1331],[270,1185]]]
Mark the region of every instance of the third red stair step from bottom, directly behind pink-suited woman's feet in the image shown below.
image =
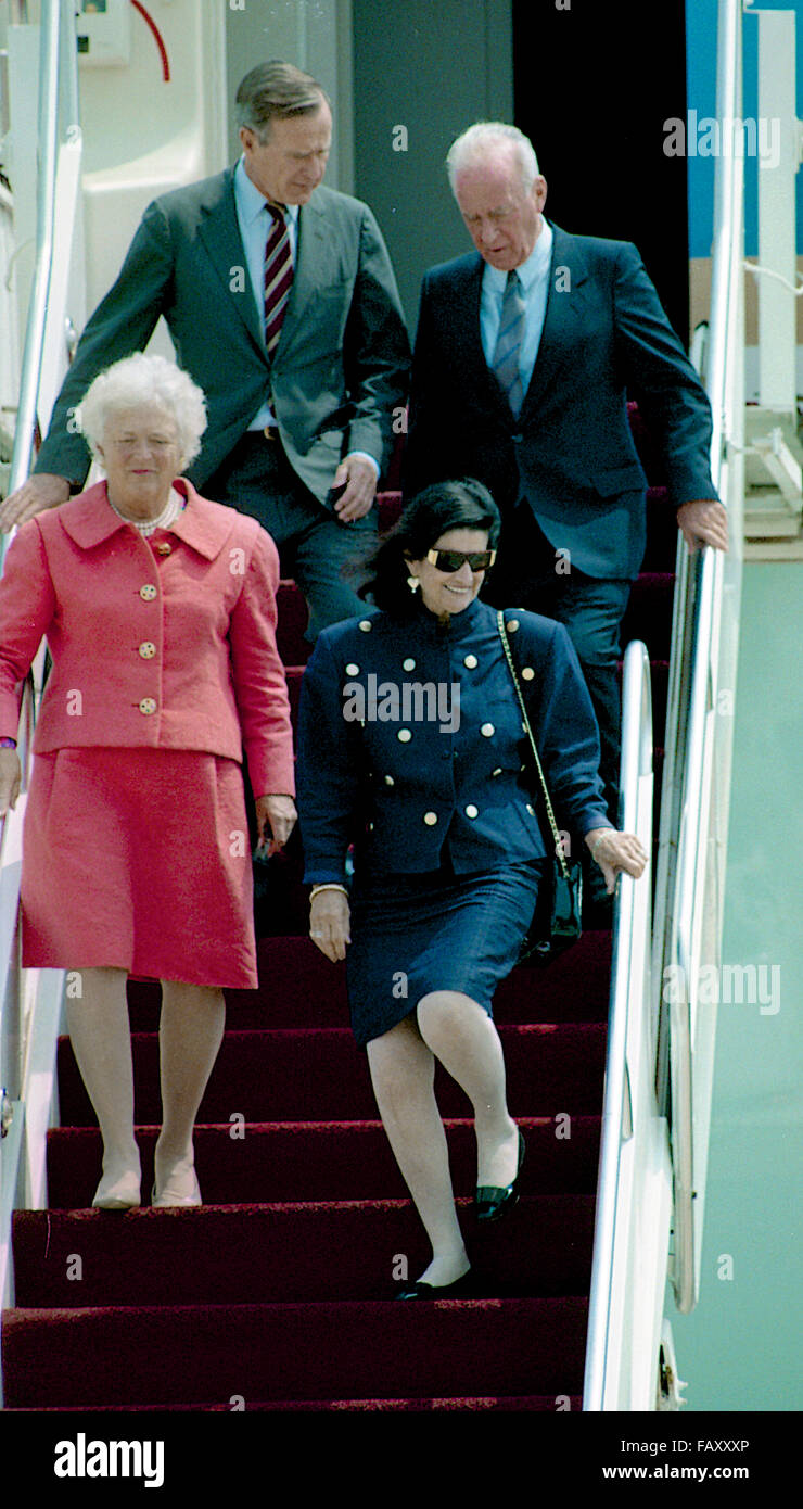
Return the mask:
[[[376,1115],[376,1112],[374,1112]],[[519,1118],[527,1138],[521,1192],[593,1194],[599,1117]],[[232,1135],[234,1133],[234,1135]],[[137,1127],[142,1189],[152,1185],[157,1126]],[[477,1144],[469,1120],[447,1121],[454,1191],[472,1194]],[[195,1160],[208,1204],[282,1200],[405,1198],[398,1165],[380,1121],[270,1121],[198,1126]],[[54,1127],[47,1139],[50,1210],[88,1209],[101,1168],[95,1127]]]

